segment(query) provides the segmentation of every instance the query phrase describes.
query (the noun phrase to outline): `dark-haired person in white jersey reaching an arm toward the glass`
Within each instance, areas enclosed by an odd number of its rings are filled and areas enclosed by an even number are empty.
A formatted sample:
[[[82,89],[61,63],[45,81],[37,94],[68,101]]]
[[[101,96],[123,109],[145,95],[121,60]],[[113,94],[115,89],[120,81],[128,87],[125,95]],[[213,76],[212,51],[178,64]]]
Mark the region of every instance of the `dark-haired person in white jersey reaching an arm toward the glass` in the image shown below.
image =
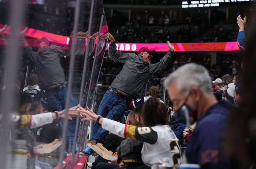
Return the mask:
[[[81,113],[86,115],[86,118],[83,118],[82,121],[94,120],[101,124],[102,128],[117,136],[144,142],[142,161],[147,166],[152,166],[154,163],[163,163],[165,157],[169,158],[169,163],[172,165],[180,163],[181,151],[178,139],[168,125],[165,104],[157,98],[151,97],[143,105],[142,121],[146,127],[126,125],[103,118],[96,115],[88,107],[87,110],[84,110],[79,106],[79,109]],[[150,168],[147,166],[142,168]]]

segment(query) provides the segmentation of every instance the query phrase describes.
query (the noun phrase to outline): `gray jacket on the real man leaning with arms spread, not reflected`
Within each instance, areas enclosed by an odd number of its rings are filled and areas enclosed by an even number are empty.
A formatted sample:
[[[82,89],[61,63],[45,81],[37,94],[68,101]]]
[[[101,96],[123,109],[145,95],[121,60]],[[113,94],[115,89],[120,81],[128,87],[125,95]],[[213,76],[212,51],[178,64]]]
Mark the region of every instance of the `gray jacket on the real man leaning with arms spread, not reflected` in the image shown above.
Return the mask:
[[[111,87],[119,89],[133,97],[140,97],[149,77],[165,69],[171,61],[173,52],[168,51],[160,62],[155,64],[145,64],[140,54],[122,53],[116,50],[116,44],[110,42],[108,48],[108,57],[113,61],[124,63],[122,70],[116,76]]]

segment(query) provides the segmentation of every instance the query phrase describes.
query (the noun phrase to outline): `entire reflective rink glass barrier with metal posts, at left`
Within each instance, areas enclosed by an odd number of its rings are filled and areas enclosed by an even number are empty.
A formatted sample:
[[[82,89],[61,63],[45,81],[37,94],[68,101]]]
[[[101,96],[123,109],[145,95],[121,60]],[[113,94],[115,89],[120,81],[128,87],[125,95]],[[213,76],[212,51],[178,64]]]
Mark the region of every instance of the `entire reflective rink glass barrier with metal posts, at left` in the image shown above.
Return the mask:
[[[74,168],[88,124],[68,109],[93,103],[102,0],[6,0],[0,14],[0,168]]]

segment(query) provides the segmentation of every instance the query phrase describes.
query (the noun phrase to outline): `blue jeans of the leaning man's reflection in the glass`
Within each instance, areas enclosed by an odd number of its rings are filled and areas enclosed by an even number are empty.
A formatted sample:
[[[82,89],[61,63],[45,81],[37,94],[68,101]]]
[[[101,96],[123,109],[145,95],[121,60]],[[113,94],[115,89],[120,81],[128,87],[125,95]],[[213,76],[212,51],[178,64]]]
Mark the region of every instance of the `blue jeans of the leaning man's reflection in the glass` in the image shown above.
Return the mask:
[[[63,84],[66,84],[66,83],[62,83],[61,85]],[[48,105],[50,106],[49,110],[51,112],[54,112],[56,110],[61,111],[65,109],[66,100],[67,100],[67,88],[63,88],[58,91],[49,92],[47,95],[47,102],[48,102]],[[78,104],[78,101],[71,94],[69,108],[74,107],[77,104]],[[63,129],[63,125],[64,125],[64,119],[61,119],[59,121],[59,126],[62,129]],[[72,120],[69,120],[69,125],[67,128],[67,135],[66,135],[68,152],[72,152],[72,146],[73,146],[73,141],[75,137],[75,127],[76,127],[76,117],[72,117]],[[76,139],[76,142],[78,142],[78,139]],[[77,145],[76,145],[76,150],[78,150]]]

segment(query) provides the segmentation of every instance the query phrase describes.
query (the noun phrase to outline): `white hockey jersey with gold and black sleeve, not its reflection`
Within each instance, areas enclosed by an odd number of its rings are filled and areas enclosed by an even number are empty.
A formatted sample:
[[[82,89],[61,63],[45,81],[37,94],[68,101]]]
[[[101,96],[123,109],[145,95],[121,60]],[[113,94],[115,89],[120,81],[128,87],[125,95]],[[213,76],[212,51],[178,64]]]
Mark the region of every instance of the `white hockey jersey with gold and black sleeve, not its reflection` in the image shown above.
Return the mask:
[[[142,161],[148,166],[162,163],[165,157],[169,158],[170,164],[181,162],[180,145],[169,125],[136,127],[104,118],[102,128],[117,136],[144,142],[141,152]]]

